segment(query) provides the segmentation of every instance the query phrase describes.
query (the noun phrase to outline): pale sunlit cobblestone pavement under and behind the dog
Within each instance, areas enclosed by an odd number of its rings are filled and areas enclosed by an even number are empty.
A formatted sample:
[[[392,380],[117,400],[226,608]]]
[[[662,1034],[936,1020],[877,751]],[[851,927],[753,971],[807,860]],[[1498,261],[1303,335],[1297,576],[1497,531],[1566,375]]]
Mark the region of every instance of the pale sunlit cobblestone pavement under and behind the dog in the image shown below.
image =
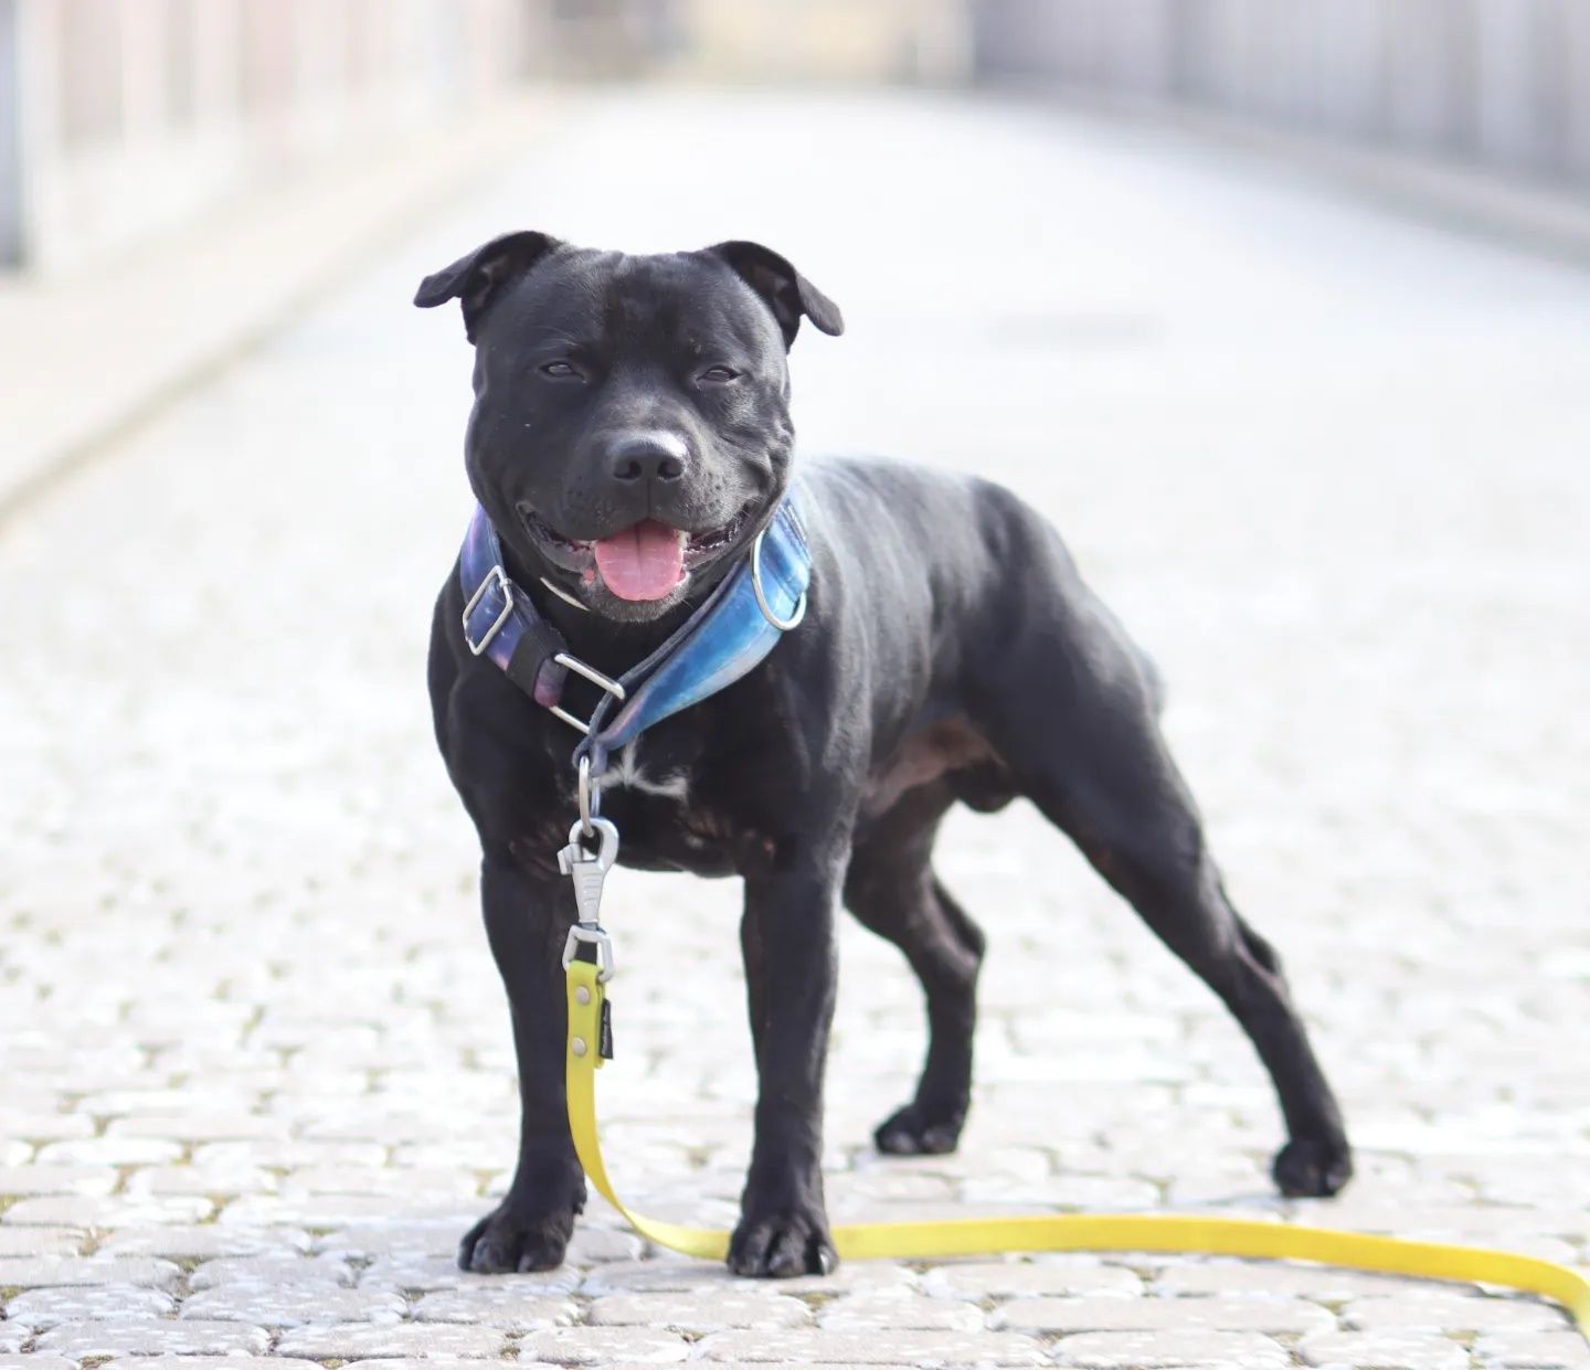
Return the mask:
[[[976,466],[1061,523],[1169,675],[1361,1147],[1342,1200],[1277,1202],[1226,1014],[1030,812],[968,815],[975,1117],[960,1155],[870,1152],[922,1031],[846,927],[836,1221],[1215,1205],[1590,1259],[1590,280],[1153,129],[614,95],[0,539],[0,1367],[1590,1365],[1476,1289],[1080,1257],[774,1287],[601,1205],[564,1270],[453,1268],[515,1117],[421,679],[469,358],[407,297],[510,226],[768,240],[851,321],[797,346],[808,450]],[[735,890],[609,892],[620,1182],[728,1222]]]

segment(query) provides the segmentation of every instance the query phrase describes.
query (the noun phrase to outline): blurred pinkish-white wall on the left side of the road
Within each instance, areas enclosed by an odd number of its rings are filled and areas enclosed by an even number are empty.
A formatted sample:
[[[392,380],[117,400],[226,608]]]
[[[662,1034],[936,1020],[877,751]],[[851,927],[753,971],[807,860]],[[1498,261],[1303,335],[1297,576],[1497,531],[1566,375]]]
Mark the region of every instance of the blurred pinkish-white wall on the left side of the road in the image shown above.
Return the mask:
[[[491,100],[545,46],[547,10],[0,0],[0,261],[83,261],[243,184]]]

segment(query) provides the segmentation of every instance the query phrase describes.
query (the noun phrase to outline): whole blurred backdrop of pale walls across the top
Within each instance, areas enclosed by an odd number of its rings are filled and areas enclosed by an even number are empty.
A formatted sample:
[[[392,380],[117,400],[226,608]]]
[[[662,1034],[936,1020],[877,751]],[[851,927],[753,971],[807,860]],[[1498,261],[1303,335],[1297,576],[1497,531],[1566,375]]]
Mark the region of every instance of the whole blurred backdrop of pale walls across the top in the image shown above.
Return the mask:
[[[0,262],[576,79],[1092,94],[1590,184],[1582,0],[3,0]]]

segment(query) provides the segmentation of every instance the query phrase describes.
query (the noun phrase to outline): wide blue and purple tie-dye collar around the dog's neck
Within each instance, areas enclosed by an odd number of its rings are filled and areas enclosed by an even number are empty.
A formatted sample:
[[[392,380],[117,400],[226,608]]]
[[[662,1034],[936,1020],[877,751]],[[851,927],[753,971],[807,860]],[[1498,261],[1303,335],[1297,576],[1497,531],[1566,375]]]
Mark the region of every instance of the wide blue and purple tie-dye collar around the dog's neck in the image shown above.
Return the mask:
[[[558,629],[507,575],[496,528],[477,507],[458,558],[466,602],[464,640],[477,656],[490,658],[507,672],[537,704],[556,710],[576,728],[588,730],[576,755],[588,755],[593,772],[601,774],[611,752],[755,669],[782,636],[771,618],[785,623],[798,620],[811,582],[811,548],[793,494],[784,499],[768,524],[760,561],[762,590],[771,617],[757,602],[747,558],[719,582],[657,652],[617,682],[607,682],[619,688],[604,687],[590,722],[580,723],[560,707],[569,669],[598,683],[606,677],[569,653]]]

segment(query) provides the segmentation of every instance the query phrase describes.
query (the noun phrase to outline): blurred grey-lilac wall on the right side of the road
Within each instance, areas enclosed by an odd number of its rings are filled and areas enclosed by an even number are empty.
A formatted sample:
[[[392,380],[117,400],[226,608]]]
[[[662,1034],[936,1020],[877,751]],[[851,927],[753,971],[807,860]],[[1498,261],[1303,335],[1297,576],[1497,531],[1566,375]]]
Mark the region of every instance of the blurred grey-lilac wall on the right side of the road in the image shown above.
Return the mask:
[[[1590,184],[1590,0],[970,0],[976,72]]]

